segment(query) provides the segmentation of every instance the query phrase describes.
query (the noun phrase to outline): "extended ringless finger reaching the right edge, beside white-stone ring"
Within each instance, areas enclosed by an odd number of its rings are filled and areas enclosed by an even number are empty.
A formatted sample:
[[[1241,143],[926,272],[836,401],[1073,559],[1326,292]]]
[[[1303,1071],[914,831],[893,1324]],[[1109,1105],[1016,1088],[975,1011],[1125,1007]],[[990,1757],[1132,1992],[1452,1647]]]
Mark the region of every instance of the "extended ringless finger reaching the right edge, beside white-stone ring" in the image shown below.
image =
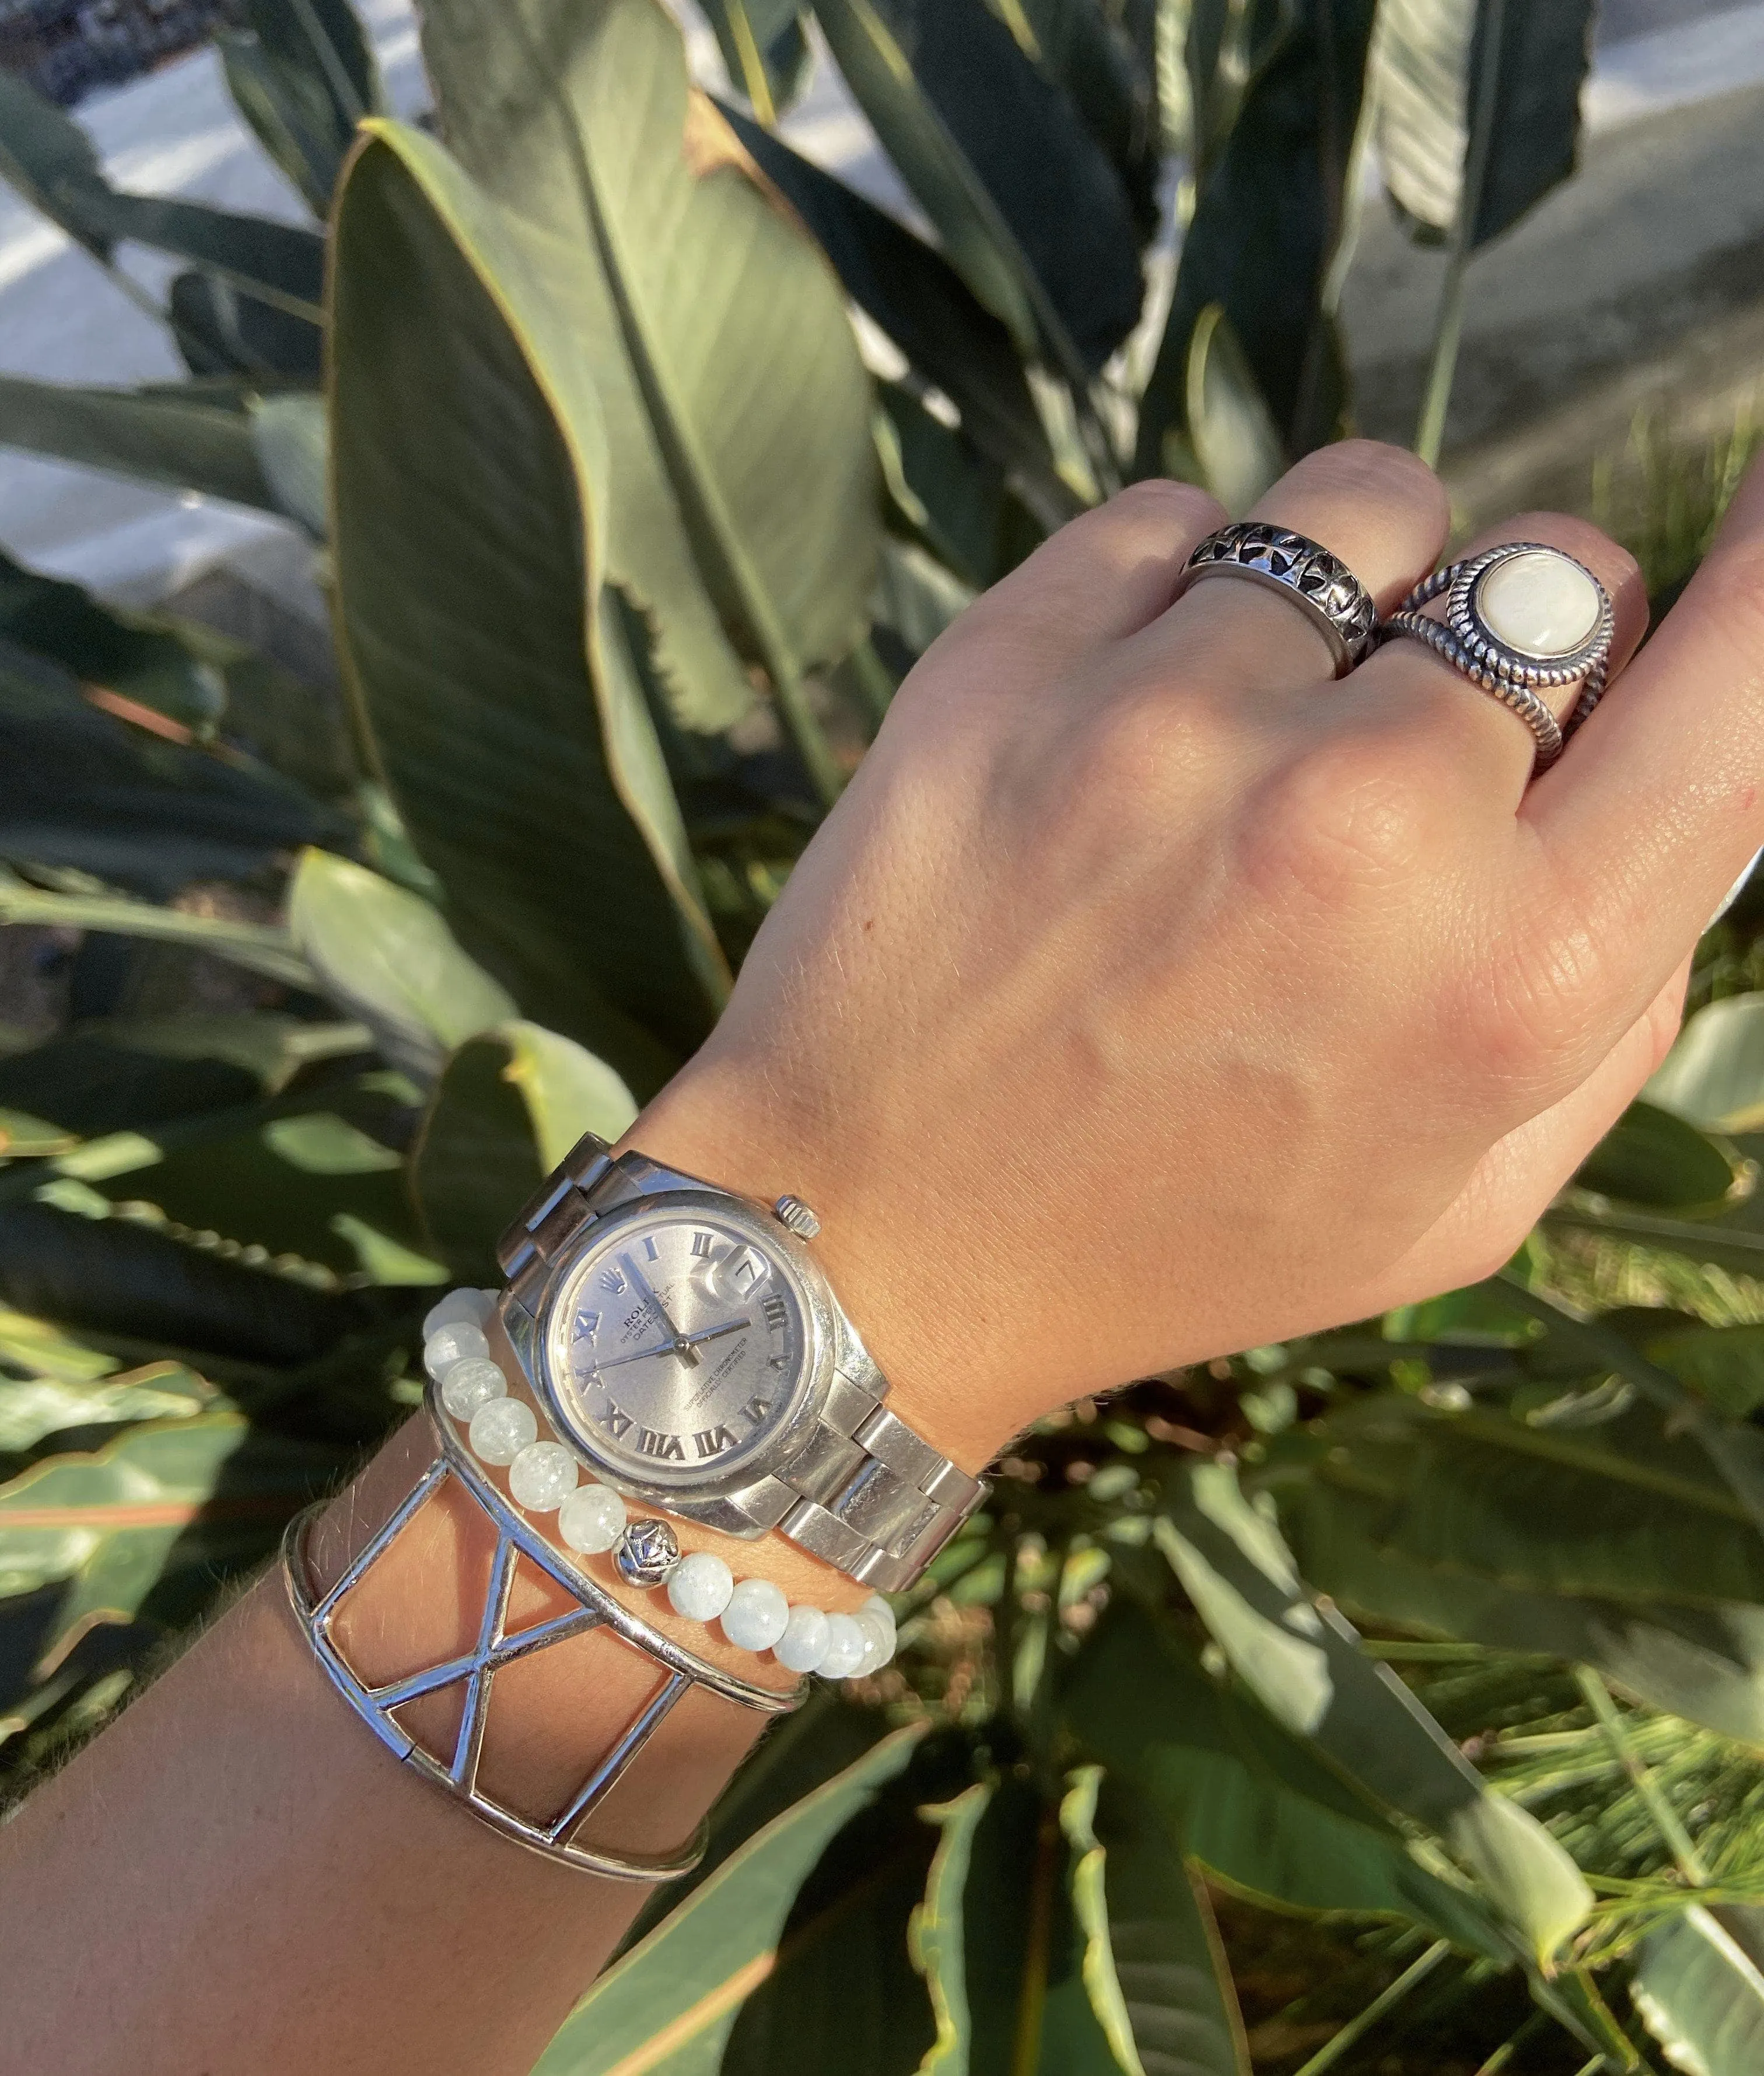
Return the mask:
[[[1637,986],[1683,957],[1764,843],[1764,463],[1521,820]]]

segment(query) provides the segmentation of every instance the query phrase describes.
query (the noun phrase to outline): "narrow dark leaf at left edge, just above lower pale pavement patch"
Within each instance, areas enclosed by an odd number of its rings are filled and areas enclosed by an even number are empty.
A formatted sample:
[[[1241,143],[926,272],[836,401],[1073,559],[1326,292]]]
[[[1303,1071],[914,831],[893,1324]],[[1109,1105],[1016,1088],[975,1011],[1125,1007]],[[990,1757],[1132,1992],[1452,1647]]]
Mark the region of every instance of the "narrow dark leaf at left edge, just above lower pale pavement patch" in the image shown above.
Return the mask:
[[[280,513],[230,386],[73,388],[0,376],[0,444]]]

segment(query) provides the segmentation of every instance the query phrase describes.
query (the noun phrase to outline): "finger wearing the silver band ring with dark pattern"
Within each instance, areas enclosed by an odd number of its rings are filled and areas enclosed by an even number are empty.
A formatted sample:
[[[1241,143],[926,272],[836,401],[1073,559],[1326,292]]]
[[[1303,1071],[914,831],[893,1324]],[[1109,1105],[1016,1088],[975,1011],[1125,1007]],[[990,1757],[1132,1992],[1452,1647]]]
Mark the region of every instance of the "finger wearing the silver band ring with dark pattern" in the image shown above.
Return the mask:
[[[1341,440],[1295,463],[1249,515],[1339,554],[1386,612],[1434,567],[1451,509],[1434,471],[1401,446]],[[1241,577],[1193,583],[1143,637],[1241,691],[1316,685],[1334,673],[1303,606]]]

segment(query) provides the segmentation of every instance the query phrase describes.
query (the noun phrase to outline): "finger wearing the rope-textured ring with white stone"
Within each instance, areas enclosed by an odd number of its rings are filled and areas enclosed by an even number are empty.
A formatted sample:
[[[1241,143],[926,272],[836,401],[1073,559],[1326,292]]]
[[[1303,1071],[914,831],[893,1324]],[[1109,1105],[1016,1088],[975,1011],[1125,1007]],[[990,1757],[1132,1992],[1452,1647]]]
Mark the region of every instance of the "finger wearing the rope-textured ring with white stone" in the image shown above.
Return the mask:
[[[1648,627],[1648,594],[1635,558],[1596,525],[1563,513],[1525,513],[1507,519],[1478,536],[1463,554],[1482,554],[1484,548],[1509,540],[1536,540],[1546,548],[1561,548],[1598,577],[1617,619],[1610,650],[1610,677],[1615,677]],[[1432,617],[1438,617],[1438,608],[1432,608]],[[1617,700],[1625,695],[1627,687],[1613,693]],[[1561,720],[1579,698],[1579,683],[1546,689],[1540,698]],[[1343,720],[1349,718],[1372,722],[1382,718],[1415,731],[1417,739],[1426,737],[1434,749],[1446,752],[1455,783],[1473,789],[1500,814],[1511,816],[1532,785],[1538,747],[1532,729],[1415,637],[1388,641],[1347,679]],[[1542,783],[1554,781],[1556,772],[1567,781],[1571,764],[1573,758],[1565,756]]]

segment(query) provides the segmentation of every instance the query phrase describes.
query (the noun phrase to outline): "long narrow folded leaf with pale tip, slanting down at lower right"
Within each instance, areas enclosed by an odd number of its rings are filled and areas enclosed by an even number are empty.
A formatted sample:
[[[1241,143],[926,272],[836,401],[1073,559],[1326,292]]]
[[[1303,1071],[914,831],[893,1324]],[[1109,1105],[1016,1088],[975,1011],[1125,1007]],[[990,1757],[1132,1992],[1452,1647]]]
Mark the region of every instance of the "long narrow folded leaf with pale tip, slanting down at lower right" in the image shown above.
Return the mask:
[[[1243,1684],[1363,1794],[1436,1831],[1546,1962],[1592,1910],[1567,1852],[1488,1787],[1330,1603],[1305,1592],[1280,1532],[1229,1466],[1187,1468],[1166,1509],[1158,1542]]]

